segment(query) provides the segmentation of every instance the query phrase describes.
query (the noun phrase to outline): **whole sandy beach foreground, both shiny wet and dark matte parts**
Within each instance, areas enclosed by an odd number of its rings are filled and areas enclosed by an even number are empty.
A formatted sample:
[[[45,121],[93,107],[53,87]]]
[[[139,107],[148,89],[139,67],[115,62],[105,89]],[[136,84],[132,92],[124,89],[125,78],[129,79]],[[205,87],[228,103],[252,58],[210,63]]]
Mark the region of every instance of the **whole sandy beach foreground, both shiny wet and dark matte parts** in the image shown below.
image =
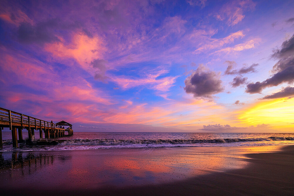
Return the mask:
[[[293,195],[294,146],[3,152],[1,195]]]

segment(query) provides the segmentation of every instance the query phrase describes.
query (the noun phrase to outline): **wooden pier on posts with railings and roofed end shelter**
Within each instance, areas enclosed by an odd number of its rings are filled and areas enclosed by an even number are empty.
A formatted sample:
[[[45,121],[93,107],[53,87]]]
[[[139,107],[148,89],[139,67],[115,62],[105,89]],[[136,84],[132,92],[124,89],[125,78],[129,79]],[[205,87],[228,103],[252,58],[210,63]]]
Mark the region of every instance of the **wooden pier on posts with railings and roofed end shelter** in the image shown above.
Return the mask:
[[[60,126],[68,126],[67,129],[60,128]],[[22,130],[26,129],[29,134],[29,139],[35,139],[35,130],[39,130],[40,139],[43,138],[43,131],[45,138],[59,138],[65,136],[65,132],[71,136],[74,134],[72,125],[65,121],[60,121],[54,124],[52,121],[40,120],[28,115],[24,115],[18,112],[0,108],[0,148],[2,148],[2,130],[4,127],[8,127],[11,130],[12,145],[18,148],[17,131],[19,135],[19,143],[24,142],[22,136]]]

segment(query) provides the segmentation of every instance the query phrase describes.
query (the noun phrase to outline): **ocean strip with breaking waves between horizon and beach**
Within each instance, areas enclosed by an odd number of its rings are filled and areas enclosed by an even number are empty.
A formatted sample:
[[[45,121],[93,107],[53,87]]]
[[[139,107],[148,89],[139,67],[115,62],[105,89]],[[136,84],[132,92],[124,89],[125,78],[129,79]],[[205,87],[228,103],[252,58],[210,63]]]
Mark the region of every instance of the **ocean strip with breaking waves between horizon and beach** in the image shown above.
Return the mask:
[[[2,132],[5,151],[86,150],[105,148],[164,148],[294,145],[294,133],[128,133],[128,132],[74,132],[74,135],[36,139],[12,147],[11,132]],[[23,131],[26,140],[28,134]],[[44,133],[43,133],[44,138]]]

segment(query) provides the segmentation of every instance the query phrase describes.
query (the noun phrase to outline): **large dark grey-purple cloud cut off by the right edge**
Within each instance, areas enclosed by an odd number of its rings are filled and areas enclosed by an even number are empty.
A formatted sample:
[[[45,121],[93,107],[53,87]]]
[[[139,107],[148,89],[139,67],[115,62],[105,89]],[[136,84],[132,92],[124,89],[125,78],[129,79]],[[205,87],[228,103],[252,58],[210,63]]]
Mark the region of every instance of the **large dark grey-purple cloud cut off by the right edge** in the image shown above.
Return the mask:
[[[247,93],[260,93],[264,88],[278,86],[281,83],[294,82],[294,35],[284,41],[280,50],[275,50],[273,58],[279,61],[273,66],[274,73],[263,82],[255,82],[247,85]]]

